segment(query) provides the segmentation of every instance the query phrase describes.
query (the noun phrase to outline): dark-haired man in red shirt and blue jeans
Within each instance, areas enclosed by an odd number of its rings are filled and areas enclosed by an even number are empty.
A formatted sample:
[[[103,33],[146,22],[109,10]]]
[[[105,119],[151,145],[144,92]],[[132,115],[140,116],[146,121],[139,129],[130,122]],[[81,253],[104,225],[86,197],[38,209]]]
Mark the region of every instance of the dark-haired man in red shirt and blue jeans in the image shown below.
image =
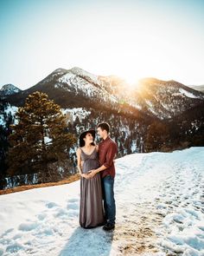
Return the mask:
[[[106,223],[103,226],[105,231],[112,230],[115,227],[116,220],[116,205],[114,199],[114,178],[115,167],[114,157],[117,153],[118,147],[115,141],[109,136],[110,127],[106,122],[99,123],[97,126],[98,135],[102,138],[99,143],[99,163],[100,167],[90,171],[89,178],[95,174],[101,174],[102,189],[104,194],[104,207]]]

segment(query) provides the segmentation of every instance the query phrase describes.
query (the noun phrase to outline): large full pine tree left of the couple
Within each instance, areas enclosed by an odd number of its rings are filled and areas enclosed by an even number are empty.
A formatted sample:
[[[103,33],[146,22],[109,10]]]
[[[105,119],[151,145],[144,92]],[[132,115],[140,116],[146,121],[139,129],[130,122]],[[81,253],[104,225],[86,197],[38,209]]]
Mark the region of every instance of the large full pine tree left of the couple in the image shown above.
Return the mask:
[[[75,137],[67,133],[65,116],[61,107],[48,100],[48,95],[34,92],[18,108],[18,123],[12,125],[8,155],[10,175],[48,173],[51,162],[68,158],[68,150]]]

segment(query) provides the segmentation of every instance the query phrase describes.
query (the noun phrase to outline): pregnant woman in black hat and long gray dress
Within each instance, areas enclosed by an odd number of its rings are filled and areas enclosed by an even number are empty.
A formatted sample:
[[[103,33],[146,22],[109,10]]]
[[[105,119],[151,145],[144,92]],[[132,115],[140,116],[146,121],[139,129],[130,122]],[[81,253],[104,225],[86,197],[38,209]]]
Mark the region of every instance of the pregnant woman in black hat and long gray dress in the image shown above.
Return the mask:
[[[80,148],[77,149],[77,162],[80,172],[80,226],[91,228],[105,222],[102,201],[100,174],[91,179],[88,172],[99,167],[99,148],[94,144],[95,131],[87,130],[80,134]]]

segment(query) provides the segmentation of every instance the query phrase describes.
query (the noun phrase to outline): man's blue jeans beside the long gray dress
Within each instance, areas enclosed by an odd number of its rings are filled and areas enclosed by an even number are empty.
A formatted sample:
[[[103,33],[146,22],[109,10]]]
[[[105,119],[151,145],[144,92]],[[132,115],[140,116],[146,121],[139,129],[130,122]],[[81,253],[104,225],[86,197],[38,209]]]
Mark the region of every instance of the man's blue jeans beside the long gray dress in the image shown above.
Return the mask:
[[[109,220],[108,222],[115,224],[116,204],[113,191],[114,178],[112,178],[112,176],[108,174],[104,178],[102,178],[101,181],[105,208],[105,219]]]

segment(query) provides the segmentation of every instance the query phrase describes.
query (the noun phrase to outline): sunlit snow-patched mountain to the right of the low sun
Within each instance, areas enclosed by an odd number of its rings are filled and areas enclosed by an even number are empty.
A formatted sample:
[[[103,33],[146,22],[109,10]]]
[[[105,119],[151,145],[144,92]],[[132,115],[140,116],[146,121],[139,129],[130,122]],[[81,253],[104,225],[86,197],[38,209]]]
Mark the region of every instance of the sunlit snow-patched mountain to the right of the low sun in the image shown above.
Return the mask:
[[[182,83],[146,78],[137,85],[135,98],[143,111],[149,111],[160,119],[181,115],[204,102],[204,94]]]

